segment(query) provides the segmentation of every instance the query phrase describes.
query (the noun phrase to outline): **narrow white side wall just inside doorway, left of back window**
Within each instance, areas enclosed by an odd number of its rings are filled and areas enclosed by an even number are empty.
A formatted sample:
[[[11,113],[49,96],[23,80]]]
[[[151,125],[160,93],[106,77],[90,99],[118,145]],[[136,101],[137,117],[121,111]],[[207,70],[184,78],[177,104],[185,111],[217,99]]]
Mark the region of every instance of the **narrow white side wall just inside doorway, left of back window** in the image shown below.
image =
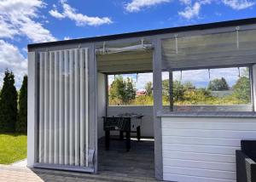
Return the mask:
[[[104,135],[103,118],[106,115],[106,80],[105,75],[98,73],[98,139]]]

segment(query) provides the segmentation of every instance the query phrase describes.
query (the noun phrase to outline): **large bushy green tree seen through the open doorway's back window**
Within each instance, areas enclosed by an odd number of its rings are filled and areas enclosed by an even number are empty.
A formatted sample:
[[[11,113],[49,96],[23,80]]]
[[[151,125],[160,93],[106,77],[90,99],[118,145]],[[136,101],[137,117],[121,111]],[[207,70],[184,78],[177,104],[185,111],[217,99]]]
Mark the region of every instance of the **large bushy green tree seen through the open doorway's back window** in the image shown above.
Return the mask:
[[[128,104],[135,99],[135,96],[136,89],[132,79],[127,78],[124,80],[122,76],[115,77],[109,88],[110,100],[117,100],[119,104]]]

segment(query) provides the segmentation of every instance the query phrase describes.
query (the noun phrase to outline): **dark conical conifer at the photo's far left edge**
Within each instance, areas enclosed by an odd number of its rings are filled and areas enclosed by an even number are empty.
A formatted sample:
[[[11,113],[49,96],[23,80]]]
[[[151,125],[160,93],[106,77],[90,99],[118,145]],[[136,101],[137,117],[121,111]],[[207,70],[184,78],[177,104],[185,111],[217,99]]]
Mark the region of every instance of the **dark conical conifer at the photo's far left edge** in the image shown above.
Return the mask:
[[[17,91],[15,76],[6,70],[0,93],[0,132],[15,132],[17,120]]]

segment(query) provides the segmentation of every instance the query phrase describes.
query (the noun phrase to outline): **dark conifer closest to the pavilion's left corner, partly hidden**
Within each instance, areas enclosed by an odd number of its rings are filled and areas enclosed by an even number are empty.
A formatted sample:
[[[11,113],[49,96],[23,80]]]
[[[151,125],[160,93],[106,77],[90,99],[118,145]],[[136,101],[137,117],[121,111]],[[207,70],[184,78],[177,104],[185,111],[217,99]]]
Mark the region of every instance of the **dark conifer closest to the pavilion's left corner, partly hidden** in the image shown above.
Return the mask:
[[[27,125],[27,76],[23,78],[19,94],[19,111],[16,122],[16,132],[26,133]]]

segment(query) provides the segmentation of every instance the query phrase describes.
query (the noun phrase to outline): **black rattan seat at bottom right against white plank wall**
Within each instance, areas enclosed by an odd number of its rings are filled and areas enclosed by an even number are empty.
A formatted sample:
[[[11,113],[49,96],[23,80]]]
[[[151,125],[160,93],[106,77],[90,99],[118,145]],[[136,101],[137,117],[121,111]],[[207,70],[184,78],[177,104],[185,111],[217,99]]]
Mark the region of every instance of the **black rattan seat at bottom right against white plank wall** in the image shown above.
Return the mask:
[[[241,140],[241,151],[236,151],[236,181],[256,182],[256,140]]]

